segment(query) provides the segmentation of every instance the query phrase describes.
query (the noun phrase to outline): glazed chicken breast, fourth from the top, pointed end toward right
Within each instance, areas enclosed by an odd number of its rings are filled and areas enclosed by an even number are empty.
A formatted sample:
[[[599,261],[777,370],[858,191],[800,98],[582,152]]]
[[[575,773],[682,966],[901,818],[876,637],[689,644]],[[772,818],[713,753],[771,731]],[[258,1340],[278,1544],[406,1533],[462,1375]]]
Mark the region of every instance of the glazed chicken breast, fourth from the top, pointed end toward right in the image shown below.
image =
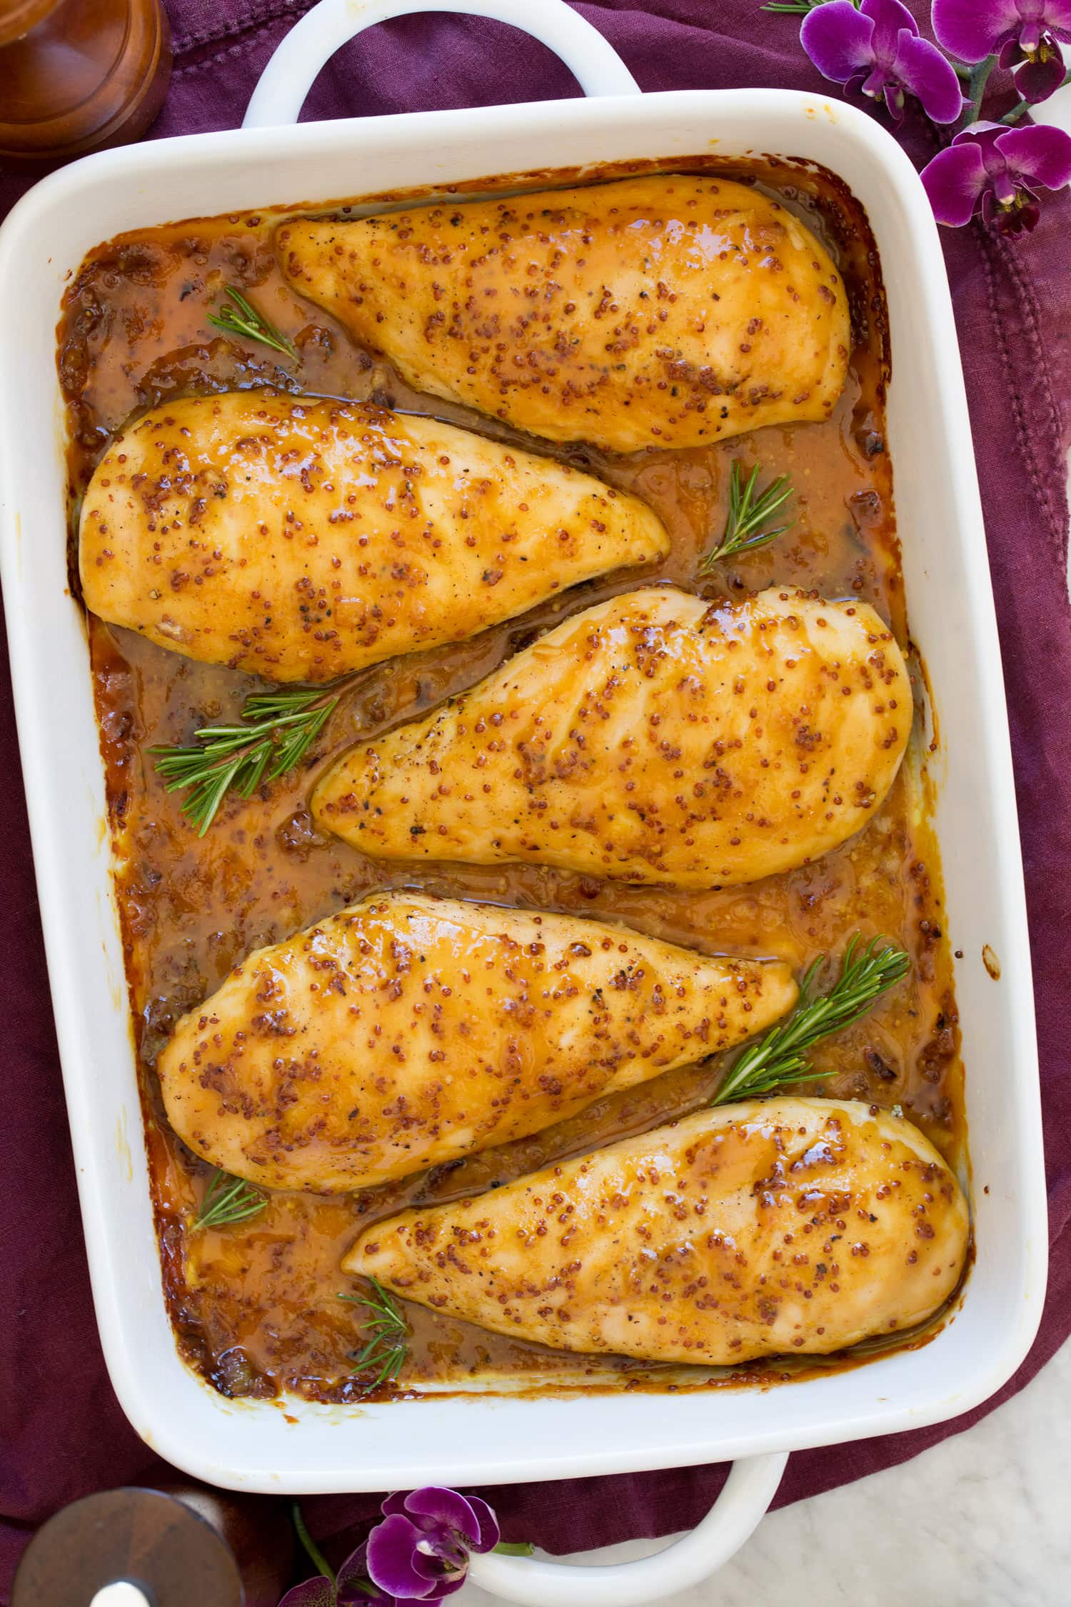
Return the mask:
[[[780,961],[376,893],[236,966],[157,1070],[172,1127],[206,1160],[331,1192],[536,1133],[795,1001]]]

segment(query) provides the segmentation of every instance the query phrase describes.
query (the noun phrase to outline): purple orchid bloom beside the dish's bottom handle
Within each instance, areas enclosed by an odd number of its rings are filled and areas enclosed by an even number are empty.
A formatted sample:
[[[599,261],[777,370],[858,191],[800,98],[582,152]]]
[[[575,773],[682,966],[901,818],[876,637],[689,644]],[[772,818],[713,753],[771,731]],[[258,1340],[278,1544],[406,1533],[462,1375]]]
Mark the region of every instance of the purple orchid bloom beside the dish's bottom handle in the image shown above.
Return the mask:
[[[368,1576],[400,1604],[435,1602],[459,1591],[470,1551],[493,1551],[495,1512],[478,1496],[434,1485],[387,1496],[384,1520],[368,1536]]]

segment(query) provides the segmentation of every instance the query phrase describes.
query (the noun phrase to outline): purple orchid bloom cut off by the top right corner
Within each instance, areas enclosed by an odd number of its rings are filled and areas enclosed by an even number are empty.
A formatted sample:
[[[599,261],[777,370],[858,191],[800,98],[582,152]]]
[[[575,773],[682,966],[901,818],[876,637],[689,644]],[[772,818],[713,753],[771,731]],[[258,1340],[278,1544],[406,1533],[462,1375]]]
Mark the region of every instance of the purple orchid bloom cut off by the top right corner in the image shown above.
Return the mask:
[[[1015,84],[1037,104],[1063,84],[1060,43],[1071,43],[1071,0],[933,0],[933,32],[962,61],[1026,63]]]

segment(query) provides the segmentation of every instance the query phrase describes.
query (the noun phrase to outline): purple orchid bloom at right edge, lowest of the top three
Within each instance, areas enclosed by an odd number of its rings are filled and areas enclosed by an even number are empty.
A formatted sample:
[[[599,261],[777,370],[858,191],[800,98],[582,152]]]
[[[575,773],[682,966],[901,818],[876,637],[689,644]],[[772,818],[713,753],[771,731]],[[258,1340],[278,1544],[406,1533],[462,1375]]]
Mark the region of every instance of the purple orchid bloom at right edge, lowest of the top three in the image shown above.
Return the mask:
[[[1018,235],[1037,222],[1032,185],[1071,183],[1071,135],[1047,124],[975,122],[923,167],[922,182],[939,223],[959,227],[981,212],[1002,235]]]

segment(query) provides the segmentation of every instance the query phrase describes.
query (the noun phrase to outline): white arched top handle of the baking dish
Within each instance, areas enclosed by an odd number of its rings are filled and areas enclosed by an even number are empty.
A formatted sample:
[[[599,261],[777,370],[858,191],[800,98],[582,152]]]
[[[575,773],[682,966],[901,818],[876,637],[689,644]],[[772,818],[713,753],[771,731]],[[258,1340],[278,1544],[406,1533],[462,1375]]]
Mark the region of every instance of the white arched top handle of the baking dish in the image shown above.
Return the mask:
[[[374,22],[414,11],[454,11],[512,22],[562,58],[584,95],[639,95],[639,84],[602,34],[565,0],[320,0],[276,47],[252,92],[242,129],[297,122],[326,61]]]

